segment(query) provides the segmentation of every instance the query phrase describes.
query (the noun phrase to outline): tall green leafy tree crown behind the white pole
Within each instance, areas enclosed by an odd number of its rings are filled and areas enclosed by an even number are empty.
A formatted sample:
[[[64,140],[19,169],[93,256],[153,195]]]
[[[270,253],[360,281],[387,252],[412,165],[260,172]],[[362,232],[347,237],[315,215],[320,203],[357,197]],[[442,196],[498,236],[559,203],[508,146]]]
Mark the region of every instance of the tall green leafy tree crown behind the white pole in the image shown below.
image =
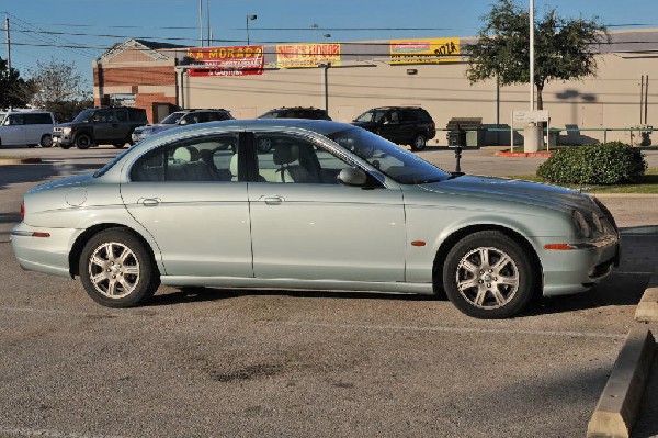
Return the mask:
[[[466,77],[470,83],[498,77],[501,86],[530,82],[530,12],[514,0],[499,0],[483,16],[485,25],[470,56]],[[555,9],[535,16],[535,77],[537,109],[544,108],[542,91],[551,80],[580,79],[597,74],[597,48],[610,42],[597,19],[567,20]]]

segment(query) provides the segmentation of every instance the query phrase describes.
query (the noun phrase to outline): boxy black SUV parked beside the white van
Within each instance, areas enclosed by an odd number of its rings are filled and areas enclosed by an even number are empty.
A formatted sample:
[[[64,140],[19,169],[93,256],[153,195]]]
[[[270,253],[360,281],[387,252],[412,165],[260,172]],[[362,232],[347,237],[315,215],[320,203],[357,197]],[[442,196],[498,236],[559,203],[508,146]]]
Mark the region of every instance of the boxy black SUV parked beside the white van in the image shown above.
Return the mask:
[[[147,123],[146,110],[139,108],[91,108],[81,111],[72,122],[55,126],[53,144],[63,149],[87,149],[101,144],[124,147],[133,142],[133,131]]]

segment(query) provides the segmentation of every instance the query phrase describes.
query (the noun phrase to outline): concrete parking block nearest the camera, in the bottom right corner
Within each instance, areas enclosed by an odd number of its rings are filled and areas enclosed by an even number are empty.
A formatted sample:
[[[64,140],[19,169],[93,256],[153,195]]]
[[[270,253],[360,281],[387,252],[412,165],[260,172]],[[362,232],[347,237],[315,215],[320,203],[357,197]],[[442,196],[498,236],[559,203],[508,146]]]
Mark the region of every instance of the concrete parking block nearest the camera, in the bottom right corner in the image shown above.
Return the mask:
[[[588,438],[631,436],[655,352],[656,340],[650,330],[628,332],[587,427]]]

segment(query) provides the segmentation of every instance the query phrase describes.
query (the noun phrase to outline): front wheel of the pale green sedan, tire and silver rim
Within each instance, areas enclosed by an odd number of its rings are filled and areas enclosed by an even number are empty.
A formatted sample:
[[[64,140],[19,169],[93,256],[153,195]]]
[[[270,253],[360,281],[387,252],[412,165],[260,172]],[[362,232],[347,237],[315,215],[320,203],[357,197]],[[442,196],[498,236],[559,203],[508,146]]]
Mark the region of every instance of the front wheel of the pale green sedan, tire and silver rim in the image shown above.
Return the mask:
[[[447,254],[443,288],[466,315],[507,318],[523,311],[534,296],[537,272],[531,260],[521,245],[500,232],[473,233]]]

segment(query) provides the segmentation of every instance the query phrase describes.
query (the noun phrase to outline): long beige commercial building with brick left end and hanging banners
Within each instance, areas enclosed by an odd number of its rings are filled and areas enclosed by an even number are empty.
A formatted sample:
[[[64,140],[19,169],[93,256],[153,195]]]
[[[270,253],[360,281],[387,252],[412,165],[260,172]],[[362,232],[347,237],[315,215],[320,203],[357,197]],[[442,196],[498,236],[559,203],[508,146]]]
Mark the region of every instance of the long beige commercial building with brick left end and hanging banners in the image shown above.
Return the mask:
[[[616,31],[611,37],[611,44],[600,46],[595,77],[544,88],[544,109],[551,126],[563,130],[563,142],[631,142],[629,132],[615,130],[658,125],[658,75],[650,77],[658,71],[658,30]],[[327,106],[333,120],[349,122],[370,108],[419,105],[438,127],[451,117],[481,117],[485,127],[509,127],[512,111],[529,109],[530,88],[497,87],[495,80],[469,83],[466,59],[460,55],[469,42],[455,37],[201,48],[131,40],[93,63],[94,99],[103,104],[112,96],[134,96],[151,122],[175,106],[224,108],[237,119],[277,106]],[[506,132],[492,134],[487,143],[509,144]],[[445,144],[445,137],[438,135],[435,142]]]

